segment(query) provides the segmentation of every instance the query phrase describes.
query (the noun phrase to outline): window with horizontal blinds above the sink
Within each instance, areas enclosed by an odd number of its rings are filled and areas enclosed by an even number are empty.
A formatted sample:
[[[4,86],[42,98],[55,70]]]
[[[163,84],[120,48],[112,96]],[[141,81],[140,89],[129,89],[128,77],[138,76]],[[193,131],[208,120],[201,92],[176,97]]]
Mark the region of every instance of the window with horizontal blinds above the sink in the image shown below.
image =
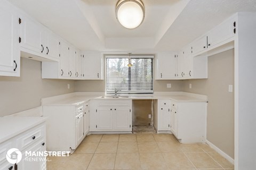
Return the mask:
[[[114,94],[153,94],[153,56],[106,56],[106,92]]]

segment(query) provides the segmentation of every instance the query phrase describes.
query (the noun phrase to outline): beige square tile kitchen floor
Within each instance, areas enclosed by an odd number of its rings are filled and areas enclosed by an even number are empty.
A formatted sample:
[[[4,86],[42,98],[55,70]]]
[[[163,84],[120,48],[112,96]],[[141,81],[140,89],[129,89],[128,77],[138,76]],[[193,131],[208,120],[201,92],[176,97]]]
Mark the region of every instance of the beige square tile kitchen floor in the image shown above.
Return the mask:
[[[234,170],[209,146],[181,144],[172,134],[91,134],[73,155],[48,159],[47,170]]]

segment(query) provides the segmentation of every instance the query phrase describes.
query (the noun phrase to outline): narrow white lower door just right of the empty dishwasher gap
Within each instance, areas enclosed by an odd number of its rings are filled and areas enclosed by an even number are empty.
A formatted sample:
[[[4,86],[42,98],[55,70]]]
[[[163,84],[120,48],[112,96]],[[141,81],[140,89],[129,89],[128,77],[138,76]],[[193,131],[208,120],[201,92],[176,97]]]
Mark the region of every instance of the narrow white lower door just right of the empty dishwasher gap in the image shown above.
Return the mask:
[[[161,107],[158,111],[158,131],[171,129],[171,114],[169,107]]]

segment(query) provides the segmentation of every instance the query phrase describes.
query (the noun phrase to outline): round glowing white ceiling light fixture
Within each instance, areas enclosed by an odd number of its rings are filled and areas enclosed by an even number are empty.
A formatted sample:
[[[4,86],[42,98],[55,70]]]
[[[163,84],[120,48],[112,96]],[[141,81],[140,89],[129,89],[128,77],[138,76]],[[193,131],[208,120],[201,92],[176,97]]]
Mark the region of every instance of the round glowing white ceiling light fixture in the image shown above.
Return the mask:
[[[116,19],[127,29],[139,27],[145,18],[145,7],[140,0],[119,0]]]

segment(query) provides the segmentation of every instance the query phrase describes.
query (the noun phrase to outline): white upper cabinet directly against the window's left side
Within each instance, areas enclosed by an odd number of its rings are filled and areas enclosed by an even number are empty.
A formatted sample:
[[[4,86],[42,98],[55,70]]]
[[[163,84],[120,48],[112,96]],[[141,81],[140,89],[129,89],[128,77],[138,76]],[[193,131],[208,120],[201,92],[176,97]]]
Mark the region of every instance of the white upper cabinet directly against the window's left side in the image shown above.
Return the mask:
[[[84,80],[103,80],[103,55],[100,52],[83,53]]]

